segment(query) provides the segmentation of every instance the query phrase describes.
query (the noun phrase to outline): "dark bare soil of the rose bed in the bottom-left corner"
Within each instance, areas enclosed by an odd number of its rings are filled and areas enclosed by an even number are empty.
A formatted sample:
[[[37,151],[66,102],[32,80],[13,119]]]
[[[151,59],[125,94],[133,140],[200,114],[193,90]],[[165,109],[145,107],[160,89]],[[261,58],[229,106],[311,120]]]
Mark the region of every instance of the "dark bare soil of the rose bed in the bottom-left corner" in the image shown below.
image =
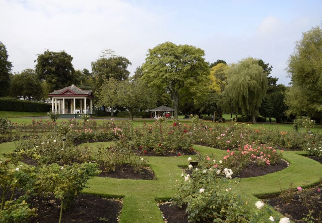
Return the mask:
[[[0,191],[2,192],[2,191]],[[23,191],[16,190],[14,198],[23,195]],[[11,194],[7,195],[9,199]],[[28,219],[28,223],[57,223],[60,214],[61,202],[52,197],[31,196],[26,200],[30,204],[29,208],[36,208],[37,216]],[[62,212],[62,223],[117,223],[122,209],[122,200],[107,199],[94,195],[80,194],[70,203],[66,210]]]

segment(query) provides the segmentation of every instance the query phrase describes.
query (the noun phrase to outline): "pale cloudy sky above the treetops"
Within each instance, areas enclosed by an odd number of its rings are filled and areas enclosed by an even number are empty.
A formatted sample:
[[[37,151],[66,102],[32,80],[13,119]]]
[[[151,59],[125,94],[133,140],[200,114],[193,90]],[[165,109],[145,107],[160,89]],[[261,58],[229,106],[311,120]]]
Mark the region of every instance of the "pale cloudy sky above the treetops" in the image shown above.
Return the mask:
[[[0,21],[13,72],[34,69],[46,49],[64,50],[75,69],[91,71],[112,49],[133,75],[149,48],[170,41],[203,49],[210,63],[260,58],[288,85],[289,55],[303,32],[322,24],[322,1],[0,0]]]

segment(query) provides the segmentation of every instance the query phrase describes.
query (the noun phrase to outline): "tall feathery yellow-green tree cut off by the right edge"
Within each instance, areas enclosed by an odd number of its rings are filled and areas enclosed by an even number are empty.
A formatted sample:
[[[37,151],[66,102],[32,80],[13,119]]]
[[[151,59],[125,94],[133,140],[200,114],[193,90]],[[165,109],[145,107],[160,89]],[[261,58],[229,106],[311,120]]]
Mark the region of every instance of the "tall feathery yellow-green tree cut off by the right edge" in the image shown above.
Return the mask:
[[[286,94],[287,113],[322,117],[322,30],[303,33],[289,57],[287,72],[291,87]],[[322,121],[322,119],[321,119]]]

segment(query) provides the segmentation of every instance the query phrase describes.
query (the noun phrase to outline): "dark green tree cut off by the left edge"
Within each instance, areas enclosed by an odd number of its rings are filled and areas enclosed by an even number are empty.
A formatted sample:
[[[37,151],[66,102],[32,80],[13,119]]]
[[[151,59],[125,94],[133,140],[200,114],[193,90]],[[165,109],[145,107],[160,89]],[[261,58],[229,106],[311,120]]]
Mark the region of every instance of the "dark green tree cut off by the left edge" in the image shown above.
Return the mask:
[[[0,97],[6,96],[10,89],[12,63],[8,61],[5,45],[0,41]]]

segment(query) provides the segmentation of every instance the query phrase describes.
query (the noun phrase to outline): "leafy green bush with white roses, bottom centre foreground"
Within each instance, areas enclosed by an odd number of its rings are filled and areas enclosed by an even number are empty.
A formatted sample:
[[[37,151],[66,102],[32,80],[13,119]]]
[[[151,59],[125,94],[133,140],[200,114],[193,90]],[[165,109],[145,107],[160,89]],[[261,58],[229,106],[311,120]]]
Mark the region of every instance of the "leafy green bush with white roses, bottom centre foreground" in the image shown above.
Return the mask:
[[[227,170],[228,171],[228,170]],[[223,180],[224,170],[193,170],[192,176],[182,174],[182,180],[176,185],[175,204],[186,204],[188,221],[195,222],[247,222],[243,201],[235,187]]]

